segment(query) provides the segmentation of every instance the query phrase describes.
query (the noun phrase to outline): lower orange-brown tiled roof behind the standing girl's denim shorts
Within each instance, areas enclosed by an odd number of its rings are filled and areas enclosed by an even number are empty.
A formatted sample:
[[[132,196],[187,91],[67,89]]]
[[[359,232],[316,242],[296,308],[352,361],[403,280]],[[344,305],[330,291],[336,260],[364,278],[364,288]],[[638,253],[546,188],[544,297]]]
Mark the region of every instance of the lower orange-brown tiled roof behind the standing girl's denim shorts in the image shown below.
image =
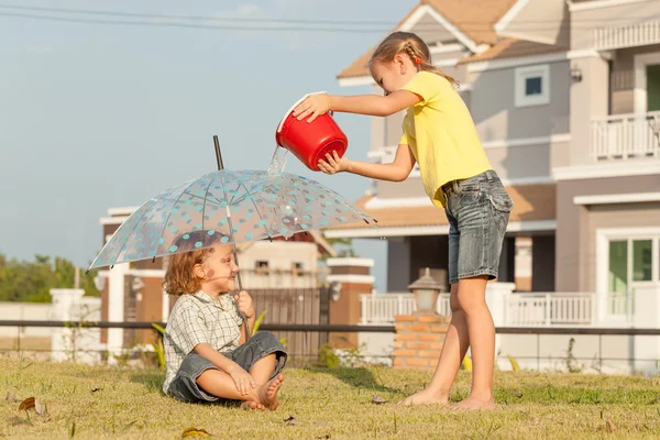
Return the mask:
[[[514,201],[510,221],[554,220],[557,218],[556,184],[507,186],[506,189]],[[449,224],[444,211],[430,205],[430,202],[428,206],[404,208],[365,208],[367,201],[371,199],[373,199],[373,196],[364,196],[355,205],[370,216],[373,216],[378,221],[378,228]],[[365,224],[364,222],[353,222],[328,228],[328,230],[364,228],[373,228],[373,226]]]

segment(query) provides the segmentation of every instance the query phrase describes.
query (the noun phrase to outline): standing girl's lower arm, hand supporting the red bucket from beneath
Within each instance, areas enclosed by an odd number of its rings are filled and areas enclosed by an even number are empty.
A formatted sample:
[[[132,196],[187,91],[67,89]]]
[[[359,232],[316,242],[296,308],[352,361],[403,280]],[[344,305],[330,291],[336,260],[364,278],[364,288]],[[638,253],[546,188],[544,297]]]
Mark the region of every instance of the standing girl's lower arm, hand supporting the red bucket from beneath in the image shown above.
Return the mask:
[[[378,180],[403,182],[408,178],[415,166],[415,156],[405,144],[398,146],[396,156],[389,164],[350,161],[346,157],[340,158],[337,152],[332,153],[326,155],[328,162],[319,162],[319,168],[326,174],[346,172]]]

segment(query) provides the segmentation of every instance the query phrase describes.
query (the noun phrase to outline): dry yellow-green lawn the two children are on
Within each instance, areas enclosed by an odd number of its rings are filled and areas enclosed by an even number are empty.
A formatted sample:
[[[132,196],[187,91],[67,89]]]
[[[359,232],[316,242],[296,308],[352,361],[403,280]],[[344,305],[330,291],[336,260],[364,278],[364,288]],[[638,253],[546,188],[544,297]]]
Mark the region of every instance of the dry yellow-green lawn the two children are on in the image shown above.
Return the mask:
[[[156,371],[0,359],[0,438],[179,439],[196,427],[215,439],[644,439],[660,437],[660,380],[497,372],[499,409],[449,413],[394,405],[430,373],[383,367],[288,370],[282,405],[248,413],[161,394]],[[461,372],[452,399],[469,392]],[[100,388],[100,389],[98,389]],[[96,389],[96,391],[95,391]],[[92,392],[94,391],[94,392]],[[20,400],[36,397],[50,419]],[[374,395],[387,400],[373,403]],[[295,424],[285,419],[295,417]],[[75,424],[75,428],[74,428]]]

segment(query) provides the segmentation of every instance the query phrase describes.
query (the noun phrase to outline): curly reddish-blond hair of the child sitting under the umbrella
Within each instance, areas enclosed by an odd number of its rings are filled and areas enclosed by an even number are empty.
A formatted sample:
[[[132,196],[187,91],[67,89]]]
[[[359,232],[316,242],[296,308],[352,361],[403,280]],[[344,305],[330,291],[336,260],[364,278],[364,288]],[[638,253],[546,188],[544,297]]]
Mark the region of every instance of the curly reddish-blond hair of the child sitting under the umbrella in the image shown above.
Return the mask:
[[[168,255],[166,258],[167,270],[163,289],[168,295],[176,296],[198,292],[204,278],[195,275],[195,265],[202,264],[215,252],[213,248],[208,246],[220,242],[222,237],[218,233],[209,235],[208,231],[195,231],[179,235],[174,242],[179,253]]]

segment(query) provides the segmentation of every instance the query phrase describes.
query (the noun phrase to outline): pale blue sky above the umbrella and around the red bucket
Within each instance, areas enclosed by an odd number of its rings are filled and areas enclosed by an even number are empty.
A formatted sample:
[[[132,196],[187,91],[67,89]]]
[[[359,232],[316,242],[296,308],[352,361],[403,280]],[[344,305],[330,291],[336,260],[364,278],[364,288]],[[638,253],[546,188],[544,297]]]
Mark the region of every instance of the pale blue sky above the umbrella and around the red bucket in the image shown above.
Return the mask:
[[[21,6],[234,19],[378,21],[383,32],[289,32],[72,23],[7,16],[28,13],[96,20],[141,20],[21,11],[0,3],[0,252],[10,257],[59,255],[87,266],[102,244],[99,218],[110,207],[139,206],[163,189],[216,168],[218,134],[227,168],[265,169],[274,131],[308,91],[340,88],[336,75],[384,36],[416,0],[32,1]],[[292,26],[292,24],[283,24]],[[346,24],[304,24],[360,29]],[[338,114],[349,157],[365,160],[369,118]],[[300,174],[349,199],[369,182]],[[385,283],[385,244],[359,241]]]

